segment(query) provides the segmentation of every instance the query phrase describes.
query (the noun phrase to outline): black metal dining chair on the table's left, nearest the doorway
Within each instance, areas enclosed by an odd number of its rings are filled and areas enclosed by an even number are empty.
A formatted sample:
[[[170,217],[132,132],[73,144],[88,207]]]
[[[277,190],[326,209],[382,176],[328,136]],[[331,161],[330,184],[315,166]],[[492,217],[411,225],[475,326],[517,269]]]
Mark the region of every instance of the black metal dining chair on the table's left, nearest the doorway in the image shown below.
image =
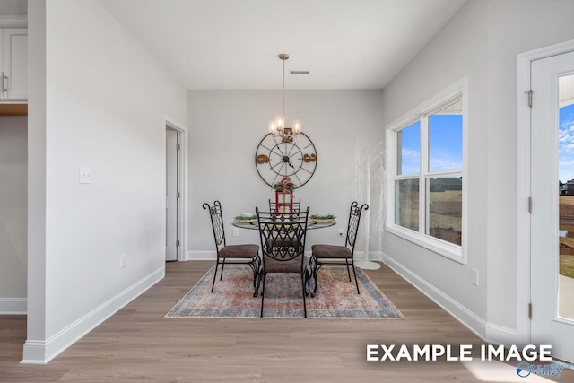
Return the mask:
[[[251,270],[253,270],[253,289],[255,291],[253,296],[256,296],[257,277],[259,275],[259,269],[261,268],[259,245],[227,245],[225,242],[225,230],[223,228],[222,204],[219,201],[214,201],[213,206],[208,203],[204,203],[202,206],[204,209],[209,210],[209,215],[212,219],[213,238],[215,239],[215,250],[217,252],[212,292],[213,286],[215,285],[215,279],[217,277],[217,269],[219,265],[222,265],[222,274],[220,274],[219,277],[219,280],[221,281],[223,278],[223,268],[227,262],[228,264],[244,264],[251,267]]]

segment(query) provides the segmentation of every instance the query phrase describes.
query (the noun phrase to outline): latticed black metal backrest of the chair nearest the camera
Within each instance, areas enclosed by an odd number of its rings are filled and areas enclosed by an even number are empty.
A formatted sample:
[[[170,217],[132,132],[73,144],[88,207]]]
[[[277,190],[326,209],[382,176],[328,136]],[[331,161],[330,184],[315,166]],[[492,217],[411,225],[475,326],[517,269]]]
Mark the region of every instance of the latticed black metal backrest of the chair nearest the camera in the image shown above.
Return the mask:
[[[259,212],[256,207],[256,213],[263,255],[277,261],[301,256],[302,265],[309,207],[304,212],[292,213]]]

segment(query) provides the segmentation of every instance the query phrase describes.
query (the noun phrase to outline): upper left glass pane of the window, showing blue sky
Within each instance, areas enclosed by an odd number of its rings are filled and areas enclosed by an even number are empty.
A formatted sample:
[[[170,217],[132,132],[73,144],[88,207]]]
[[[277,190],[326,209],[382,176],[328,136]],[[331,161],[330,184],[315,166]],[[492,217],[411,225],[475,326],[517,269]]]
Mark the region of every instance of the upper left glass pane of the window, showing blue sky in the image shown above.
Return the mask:
[[[421,123],[396,133],[396,174],[418,174],[421,171]]]

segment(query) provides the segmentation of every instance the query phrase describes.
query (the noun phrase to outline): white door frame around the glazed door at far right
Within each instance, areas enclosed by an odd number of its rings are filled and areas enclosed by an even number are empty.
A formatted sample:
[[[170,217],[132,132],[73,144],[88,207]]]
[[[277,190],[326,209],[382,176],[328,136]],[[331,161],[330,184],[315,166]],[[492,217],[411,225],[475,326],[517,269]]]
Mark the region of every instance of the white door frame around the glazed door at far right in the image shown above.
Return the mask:
[[[517,86],[517,343],[530,344],[531,328],[528,315],[531,280],[530,280],[530,224],[529,213],[530,189],[530,107],[527,91],[531,87],[530,65],[540,60],[574,51],[574,39],[549,47],[535,49],[518,55]],[[532,95],[535,100],[536,95]],[[534,202],[535,204],[535,202]]]

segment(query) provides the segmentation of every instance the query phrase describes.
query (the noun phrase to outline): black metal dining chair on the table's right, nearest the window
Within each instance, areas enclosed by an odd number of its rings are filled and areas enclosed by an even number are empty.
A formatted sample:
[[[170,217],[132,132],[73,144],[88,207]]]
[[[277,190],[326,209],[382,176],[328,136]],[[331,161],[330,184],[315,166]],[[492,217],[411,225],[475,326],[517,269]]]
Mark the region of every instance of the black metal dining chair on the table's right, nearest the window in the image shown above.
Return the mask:
[[[349,209],[349,223],[347,224],[347,235],[345,237],[344,246],[311,246],[309,268],[311,272],[310,278],[312,278],[311,282],[314,282],[309,283],[311,296],[315,296],[315,292],[317,291],[317,273],[324,265],[346,265],[349,282],[351,282],[351,271],[349,270],[349,265],[351,265],[352,275],[355,278],[355,285],[357,286],[357,294],[361,293],[359,292],[359,283],[357,282],[353,257],[355,253],[355,243],[357,242],[357,233],[359,231],[359,222],[361,222],[361,213],[367,209],[369,209],[369,205],[367,204],[359,206],[357,201],[352,202],[351,208]]]

